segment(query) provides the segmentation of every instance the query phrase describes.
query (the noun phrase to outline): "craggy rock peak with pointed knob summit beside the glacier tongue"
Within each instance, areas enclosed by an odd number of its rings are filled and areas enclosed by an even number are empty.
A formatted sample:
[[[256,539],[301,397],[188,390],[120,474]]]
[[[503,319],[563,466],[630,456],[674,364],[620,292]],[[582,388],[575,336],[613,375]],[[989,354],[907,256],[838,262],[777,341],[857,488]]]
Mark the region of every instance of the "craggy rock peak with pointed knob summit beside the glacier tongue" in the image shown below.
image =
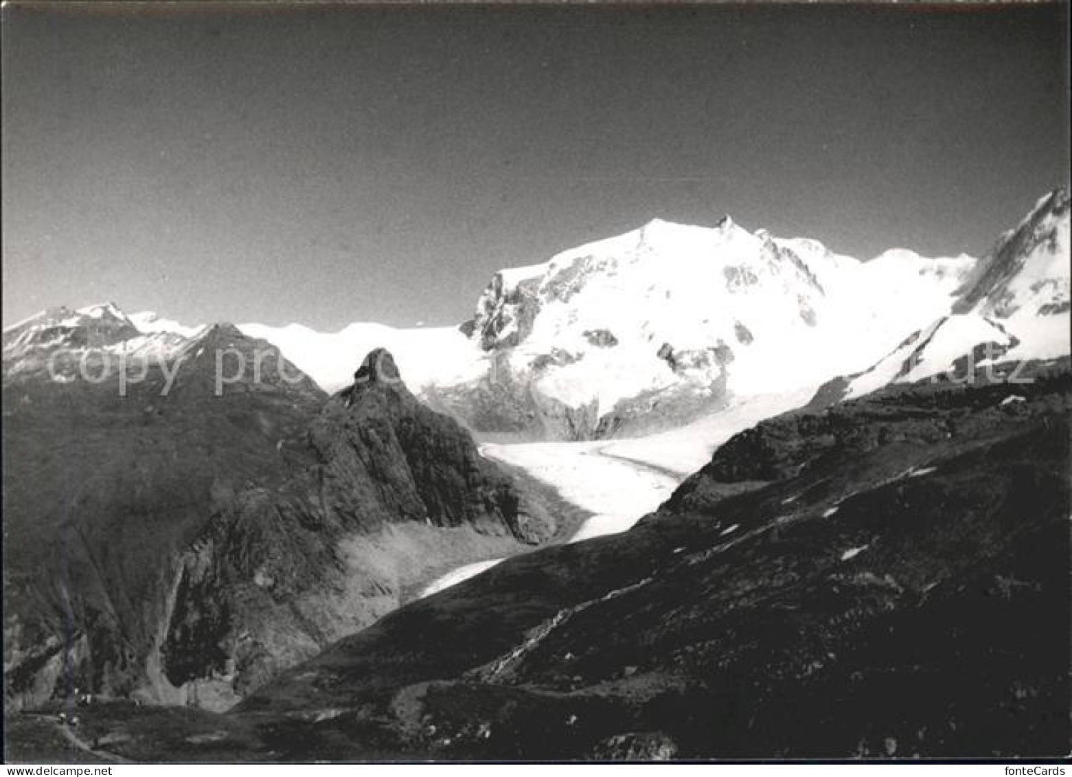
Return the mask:
[[[408,392],[384,349],[328,401],[308,446],[315,463],[272,491],[237,495],[195,543],[164,645],[173,684],[210,674],[237,700],[398,607],[405,574],[385,573],[391,549],[354,550],[389,525],[466,526],[504,546],[554,531],[456,421]]]

